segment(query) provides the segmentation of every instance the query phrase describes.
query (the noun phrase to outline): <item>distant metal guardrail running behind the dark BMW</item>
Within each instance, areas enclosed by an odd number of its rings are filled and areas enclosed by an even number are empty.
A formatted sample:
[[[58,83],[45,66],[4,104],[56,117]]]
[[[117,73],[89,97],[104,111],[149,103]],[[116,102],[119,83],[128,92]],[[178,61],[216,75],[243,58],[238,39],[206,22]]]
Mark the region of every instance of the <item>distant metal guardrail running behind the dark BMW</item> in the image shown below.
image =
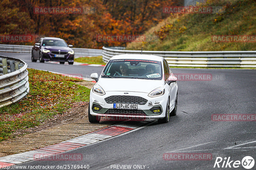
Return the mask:
[[[31,54],[33,46],[23,46],[23,45],[9,45],[0,44],[0,52],[12,52],[12,53],[27,53]],[[90,48],[72,48],[75,52],[75,58],[85,57],[85,56],[99,56],[102,53],[100,49],[90,49]]]

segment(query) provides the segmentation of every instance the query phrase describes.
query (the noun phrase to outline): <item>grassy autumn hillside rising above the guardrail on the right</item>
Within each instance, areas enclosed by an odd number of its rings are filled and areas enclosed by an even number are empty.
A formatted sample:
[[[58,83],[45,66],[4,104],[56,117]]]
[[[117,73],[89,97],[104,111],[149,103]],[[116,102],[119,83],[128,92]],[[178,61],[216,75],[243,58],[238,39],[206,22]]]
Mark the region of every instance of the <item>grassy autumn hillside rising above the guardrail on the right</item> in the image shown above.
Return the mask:
[[[145,36],[154,40],[132,42],[127,49],[158,51],[248,51],[253,42],[214,42],[213,35],[256,35],[255,0],[208,0],[200,6],[224,6],[219,14],[170,14]],[[253,39],[252,39],[253,40]]]

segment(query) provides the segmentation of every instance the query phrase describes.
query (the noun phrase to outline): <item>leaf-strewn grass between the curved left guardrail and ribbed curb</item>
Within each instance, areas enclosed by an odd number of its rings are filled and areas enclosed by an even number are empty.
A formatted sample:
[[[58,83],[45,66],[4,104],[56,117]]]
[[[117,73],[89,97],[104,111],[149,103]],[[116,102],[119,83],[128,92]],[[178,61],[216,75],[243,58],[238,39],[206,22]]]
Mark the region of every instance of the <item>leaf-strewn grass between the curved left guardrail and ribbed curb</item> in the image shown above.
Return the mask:
[[[0,108],[0,141],[13,132],[31,128],[63,114],[75,102],[89,101],[90,89],[75,84],[80,79],[28,69],[29,94],[19,103]]]

